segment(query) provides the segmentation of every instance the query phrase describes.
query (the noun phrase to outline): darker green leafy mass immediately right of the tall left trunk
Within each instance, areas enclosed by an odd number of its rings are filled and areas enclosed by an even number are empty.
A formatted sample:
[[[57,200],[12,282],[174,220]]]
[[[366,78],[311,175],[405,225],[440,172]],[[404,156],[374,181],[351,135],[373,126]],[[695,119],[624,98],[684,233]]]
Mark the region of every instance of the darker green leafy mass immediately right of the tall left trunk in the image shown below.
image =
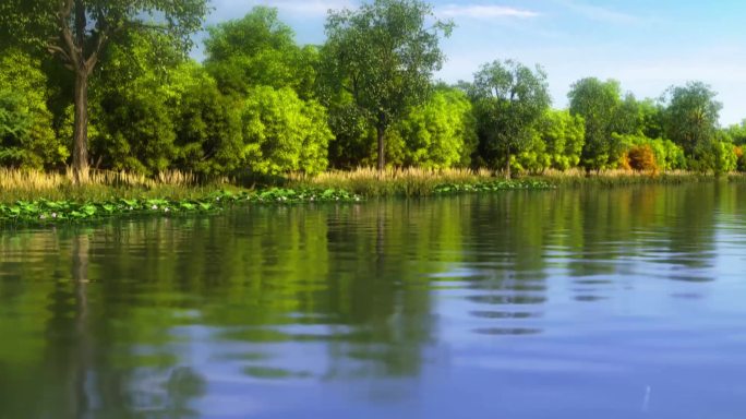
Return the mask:
[[[95,166],[149,175],[170,167],[178,92],[161,65],[176,67],[180,56],[168,47],[161,36],[131,34],[108,49],[91,94]]]

